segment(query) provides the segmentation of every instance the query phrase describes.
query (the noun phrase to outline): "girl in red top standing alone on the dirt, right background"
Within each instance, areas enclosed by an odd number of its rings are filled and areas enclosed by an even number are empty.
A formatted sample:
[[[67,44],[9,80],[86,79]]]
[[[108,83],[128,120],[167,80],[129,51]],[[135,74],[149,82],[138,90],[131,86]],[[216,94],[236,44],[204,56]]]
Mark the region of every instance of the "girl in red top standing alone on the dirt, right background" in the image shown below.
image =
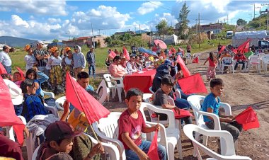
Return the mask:
[[[207,81],[210,81],[210,79],[214,79],[216,77],[217,58],[214,56],[214,52],[210,52],[210,57],[208,57],[207,60],[205,60],[205,63],[207,61],[210,63],[210,65],[207,68]]]

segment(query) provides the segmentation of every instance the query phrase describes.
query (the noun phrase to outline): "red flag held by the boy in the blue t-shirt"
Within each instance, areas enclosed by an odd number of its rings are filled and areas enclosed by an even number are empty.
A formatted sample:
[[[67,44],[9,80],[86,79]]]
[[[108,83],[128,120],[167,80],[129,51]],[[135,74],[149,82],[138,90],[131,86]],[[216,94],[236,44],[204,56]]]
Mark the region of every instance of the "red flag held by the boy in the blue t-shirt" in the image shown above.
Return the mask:
[[[251,108],[251,106],[246,108],[246,110],[241,112],[239,115],[236,115],[235,120],[239,124],[243,125],[244,130],[260,127],[257,113]]]

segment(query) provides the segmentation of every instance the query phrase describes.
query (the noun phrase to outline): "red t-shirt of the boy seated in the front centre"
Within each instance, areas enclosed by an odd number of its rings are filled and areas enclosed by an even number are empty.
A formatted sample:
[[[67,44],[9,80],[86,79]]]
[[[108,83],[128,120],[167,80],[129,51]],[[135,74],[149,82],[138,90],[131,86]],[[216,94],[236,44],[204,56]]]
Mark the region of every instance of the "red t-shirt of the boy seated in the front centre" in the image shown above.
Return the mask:
[[[146,127],[146,123],[143,119],[143,115],[140,110],[137,111],[138,118],[132,118],[132,116],[128,113],[128,110],[125,110],[122,115],[120,115],[120,119],[118,120],[119,125],[119,137],[118,139],[122,142],[125,149],[130,149],[127,147],[125,142],[122,140],[122,133],[128,132],[129,137],[132,139],[137,146],[142,143],[141,135],[142,135],[142,128]]]

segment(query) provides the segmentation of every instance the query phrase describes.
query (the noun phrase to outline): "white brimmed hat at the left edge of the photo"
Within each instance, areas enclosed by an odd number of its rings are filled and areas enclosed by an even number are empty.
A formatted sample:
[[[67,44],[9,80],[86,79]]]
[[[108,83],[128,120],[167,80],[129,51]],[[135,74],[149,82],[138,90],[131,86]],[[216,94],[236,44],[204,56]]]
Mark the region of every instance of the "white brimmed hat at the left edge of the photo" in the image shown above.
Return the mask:
[[[6,86],[8,86],[9,93],[11,94],[11,101],[13,105],[20,105],[23,103],[23,93],[21,88],[18,87],[13,81],[4,79]]]

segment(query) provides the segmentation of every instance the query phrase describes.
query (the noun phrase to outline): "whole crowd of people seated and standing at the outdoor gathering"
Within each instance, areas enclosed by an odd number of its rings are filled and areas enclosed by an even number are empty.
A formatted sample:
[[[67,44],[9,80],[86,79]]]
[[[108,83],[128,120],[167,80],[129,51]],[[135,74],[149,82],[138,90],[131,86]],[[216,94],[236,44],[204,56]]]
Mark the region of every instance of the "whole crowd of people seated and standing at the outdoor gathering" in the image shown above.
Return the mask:
[[[57,47],[52,47],[47,51],[43,49],[42,45],[43,43],[38,41],[35,50],[30,45],[25,46],[25,51],[28,52],[28,55],[25,56],[25,77],[20,72],[13,73],[13,82],[17,87],[13,89],[18,92],[21,90],[24,98],[24,101],[21,101],[21,105],[14,105],[16,115],[23,115],[28,123],[39,120],[36,115],[49,115],[43,101],[42,84],[47,83],[47,86],[51,86],[53,91],[58,91],[59,93],[64,88],[67,72],[74,76],[78,84],[96,100],[99,98],[99,95],[94,92],[93,87],[89,85],[89,77],[95,77],[96,73],[96,55],[93,52],[93,48],[90,48],[85,58],[81,52],[81,47],[78,45],[74,46],[74,53],[72,53],[70,47],[65,47],[61,51]],[[125,74],[140,72],[143,68],[156,67],[156,74],[152,84],[152,91],[154,91],[151,97],[152,104],[160,105],[165,109],[175,110],[178,113],[181,109],[190,110],[191,107],[187,98],[191,95],[183,93],[181,86],[177,83],[178,79],[184,78],[181,65],[177,61],[178,56],[184,58],[184,50],[178,48],[178,52],[176,52],[171,47],[169,51],[164,51],[161,50],[159,45],[156,45],[152,50],[155,50],[157,55],[148,55],[137,53],[135,48],[135,46],[132,47],[132,54],[130,54],[130,59],[127,61],[123,51],[118,52],[118,50],[114,50],[115,57],[110,57],[112,50],[108,50],[108,58],[105,62],[108,65],[108,72],[114,77],[123,77]],[[187,47],[187,52],[191,52],[190,45]],[[11,77],[9,74],[11,72],[8,69],[11,67],[11,59],[8,56],[8,46],[4,47],[3,52],[1,52],[1,55],[3,54],[7,56],[4,55],[5,58],[1,60],[1,64],[3,64],[8,74],[2,74],[1,76],[3,79],[6,79],[5,81],[10,81]],[[224,56],[228,56],[225,54],[227,54],[226,51],[219,57],[220,61],[222,61]],[[236,56],[235,59],[241,59],[241,55]],[[210,67],[207,70],[207,79],[212,78],[212,81],[210,81],[211,93],[205,98],[202,110],[219,115],[219,96],[223,91],[224,82],[221,79],[215,79],[214,69],[218,58],[213,52],[210,52],[210,57],[208,57],[207,61],[210,63]],[[86,63],[88,63],[89,73],[84,72]],[[175,96],[176,91],[181,92],[181,98]],[[173,98],[175,105],[168,103],[168,96]],[[125,103],[127,110],[120,115],[118,120],[118,139],[125,147],[127,159],[149,159],[147,152],[151,142],[142,140],[141,133],[154,132],[159,130],[160,126],[147,127],[145,125],[142,113],[139,111],[142,103],[142,91],[139,91],[139,89],[131,88],[127,91]],[[44,132],[38,135],[40,148],[38,149],[37,159],[101,159],[101,154],[104,152],[102,144],[99,142],[93,146],[91,139],[82,134],[87,132],[89,125],[86,115],[68,101],[64,101],[63,108],[62,117],[59,120],[54,120],[55,122],[47,124],[45,126],[46,129],[43,130]],[[160,120],[167,120],[166,115],[159,115]],[[219,120],[221,122],[221,129],[231,132],[234,141],[236,141],[242,127],[234,122],[233,118],[232,116],[222,116]],[[204,120],[207,127],[214,127],[214,122],[211,118],[205,116]],[[185,122],[185,124],[193,123],[190,116],[182,118],[181,122]],[[30,130],[29,125],[26,125],[24,131],[28,133],[28,130]],[[14,142],[11,142],[2,135],[0,135],[0,142],[0,147],[4,143],[7,144],[6,151],[9,150],[9,152],[5,153],[0,152],[0,156],[23,159],[17,144],[15,145]],[[159,159],[167,158],[165,147],[158,145],[158,156]]]

